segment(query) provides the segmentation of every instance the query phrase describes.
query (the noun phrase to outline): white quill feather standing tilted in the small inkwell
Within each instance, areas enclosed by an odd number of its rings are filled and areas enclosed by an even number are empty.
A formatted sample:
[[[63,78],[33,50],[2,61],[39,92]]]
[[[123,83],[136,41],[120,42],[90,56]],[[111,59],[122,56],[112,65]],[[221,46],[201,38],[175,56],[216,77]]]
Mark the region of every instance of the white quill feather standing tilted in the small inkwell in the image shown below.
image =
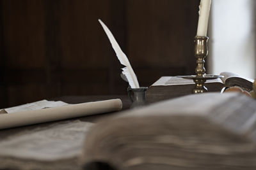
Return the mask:
[[[106,32],[108,39],[109,39],[113,49],[116,52],[117,58],[120,60],[121,64],[125,66],[124,68],[122,68],[122,70],[123,70],[122,73],[126,76],[128,82],[129,82],[129,85],[131,86],[132,89],[140,88],[136,74],[134,73],[127,56],[125,55],[124,52],[122,52],[120,46],[116,42],[116,39],[114,38],[111,31],[109,31],[108,27],[101,20],[99,20],[99,22],[102,25],[104,31]]]

